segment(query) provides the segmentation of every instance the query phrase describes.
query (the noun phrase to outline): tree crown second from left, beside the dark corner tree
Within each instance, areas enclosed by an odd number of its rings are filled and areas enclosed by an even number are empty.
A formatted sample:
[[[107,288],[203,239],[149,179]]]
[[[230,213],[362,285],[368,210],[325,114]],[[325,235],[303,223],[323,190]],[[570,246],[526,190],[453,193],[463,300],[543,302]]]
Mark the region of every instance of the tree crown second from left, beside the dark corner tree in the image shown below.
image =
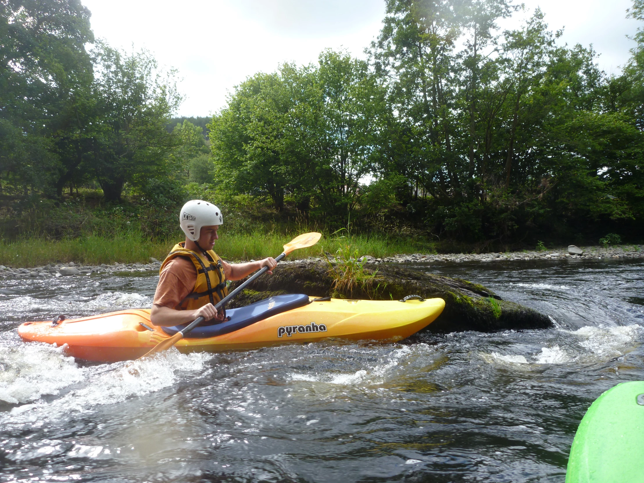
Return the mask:
[[[181,98],[173,71],[164,77],[145,50],[127,55],[99,43],[94,96],[98,117],[91,163],[107,201],[120,201],[127,183],[146,190],[171,177],[177,146],[166,131]]]

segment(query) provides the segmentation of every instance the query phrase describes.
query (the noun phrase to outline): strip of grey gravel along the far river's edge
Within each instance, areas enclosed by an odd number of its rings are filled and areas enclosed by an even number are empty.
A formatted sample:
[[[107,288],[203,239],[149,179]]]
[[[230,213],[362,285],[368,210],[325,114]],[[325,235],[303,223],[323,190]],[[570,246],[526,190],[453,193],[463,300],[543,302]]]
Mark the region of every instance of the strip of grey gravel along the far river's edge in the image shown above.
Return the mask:
[[[450,254],[406,254],[395,255],[386,258],[374,258],[365,255],[363,258],[368,263],[440,263],[440,262],[463,262],[463,261],[518,261],[518,260],[607,260],[618,258],[644,258],[644,245],[617,245],[615,247],[579,247],[581,254],[573,254],[568,248],[553,249],[547,251],[522,251],[522,252],[498,252],[498,253],[450,253]],[[311,260],[321,260],[312,258]],[[290,263],[283,261],[282,263]],[[93,273],[117,273],[117,272],[150,272],[158,271],[161,262],[151,258],[148,263],[114,263],[99,266],[77,265],[70,263],[55,263],[41,267],[5,267],[0,265],[1,278],[27,278],[27,277],[61,277],[61,276],[86,276]]]

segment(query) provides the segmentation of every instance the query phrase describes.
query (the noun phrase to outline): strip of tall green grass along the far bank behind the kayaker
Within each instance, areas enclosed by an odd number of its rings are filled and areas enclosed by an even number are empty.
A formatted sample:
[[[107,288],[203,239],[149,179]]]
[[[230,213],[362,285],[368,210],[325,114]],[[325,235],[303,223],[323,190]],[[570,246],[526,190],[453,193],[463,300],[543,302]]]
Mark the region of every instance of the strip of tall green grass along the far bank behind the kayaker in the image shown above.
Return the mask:
[[[282,245],[299,233],[281,234],[276,232],[227,233],[222,232],[215,242],[216,251],[225,260],[260,260],[277,256]],[[69,240],[46,240],[26,238],[7,242],[0,240],[0,265],[8,267],[36,267],[47,263],[73,261],[82,265],[101,263],[147,263],[150,257],[163,260],[176,242],[154,241],[137,233],[106,236],[84,236]],[[393,254],[435,252],[431,243],[415,240],[387,238],[380,234],[361,234],[346,237],[323,236],[320,242],[307,249],[296,250],[289,260],[321,256],[322,251],[335,254],[347,243],[362,255],[383,258]]]

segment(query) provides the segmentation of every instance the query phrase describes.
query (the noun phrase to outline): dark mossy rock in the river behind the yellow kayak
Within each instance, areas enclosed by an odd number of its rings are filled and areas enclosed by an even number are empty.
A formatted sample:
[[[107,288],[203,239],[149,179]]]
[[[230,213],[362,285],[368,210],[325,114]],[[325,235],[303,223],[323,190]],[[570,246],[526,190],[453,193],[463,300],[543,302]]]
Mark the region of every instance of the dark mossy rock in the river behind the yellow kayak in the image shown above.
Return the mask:
[[[242,307],[270,296],[307,294],[314,297],[377,300],[399,300],[408,295],[423,298],[442,298],[445,309],[426,330],[431,332],[459,332],[548,328],[552,322],[532,308],[503,300],[492,290],[460,278],[428,274],[397,265],[365,265],[365,272],[375,276],[365,287],[350,294],[332,289],[333,279],[326,263],[296,261],[280,263],[272,275],[263,274],[234,298],[228,307]],[[230,290],[243,280],[233,282]],[[375,294],[375,296],[374,296]]]

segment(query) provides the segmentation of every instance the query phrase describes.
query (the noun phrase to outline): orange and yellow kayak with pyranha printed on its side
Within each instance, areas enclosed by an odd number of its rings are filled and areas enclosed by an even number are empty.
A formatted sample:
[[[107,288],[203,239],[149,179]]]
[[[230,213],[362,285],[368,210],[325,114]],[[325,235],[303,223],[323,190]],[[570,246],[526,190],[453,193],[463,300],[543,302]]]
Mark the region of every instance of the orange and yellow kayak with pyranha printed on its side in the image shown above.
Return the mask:
[[[197,327],[178,341],[181,352],[254,349],[323,339],[400,340],[440,315],[443,299],[374,301],[276,296],[227,310],[230,320]],[[24,341],[66,344],[69,355],[88,361],[136,359],[182,327],[158,327],[149,309],[122,310],[81,319],[25,322]]]

